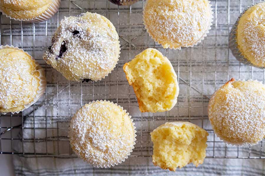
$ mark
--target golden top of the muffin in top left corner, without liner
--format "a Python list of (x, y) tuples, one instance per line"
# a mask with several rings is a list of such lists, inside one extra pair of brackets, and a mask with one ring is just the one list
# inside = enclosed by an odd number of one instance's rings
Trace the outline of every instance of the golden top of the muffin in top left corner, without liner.
[(0, 8), (12, 18), (29, 19), (41, 15), (52, 0), (0, 0)]

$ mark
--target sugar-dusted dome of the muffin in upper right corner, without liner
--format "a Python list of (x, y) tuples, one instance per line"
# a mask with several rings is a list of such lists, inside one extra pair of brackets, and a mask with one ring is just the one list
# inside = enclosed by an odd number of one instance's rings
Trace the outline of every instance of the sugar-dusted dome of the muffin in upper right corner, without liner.
[(237, 48), (253, 65), (265, 67), (265, 3), (249, 8), (236, 29)]

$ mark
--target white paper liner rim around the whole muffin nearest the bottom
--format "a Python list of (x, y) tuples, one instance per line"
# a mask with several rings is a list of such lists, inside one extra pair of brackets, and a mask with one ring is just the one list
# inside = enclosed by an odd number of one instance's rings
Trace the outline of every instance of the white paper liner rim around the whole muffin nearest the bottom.
[[(106, 101), (106, 100), (97, 100), (97, 101), (90, 101), (88, 104), (92, 104), (92, 103), (95, 103), (95, 102), (110, 102), (110, 101)], [(110, 103), (112, 103), (112, 104), (114, 104), (112, 101), (110, 102)], [(128, 153), (124, 156), (124, 158), (121, 158), (121, 159), (119, 159), (119, 160), (117, 160), (117, 161), (115, 161), (114, 163), (106, 163), (106, 164), (103, 164), (103, 165), (96, 165), (96, 164), (93, 164), (93, 163), (90, 163), (90, 162), (88, 162), (87, 160), (84, 160), (84, 162), (86, 162), (86, 163), (88, 163), (88, 164), (90, 164), (90, 165), (93, 165), (94, 167), (101, 167), (101, 168), (107, 168), (107, 167), (111, 167), (111, 166), (115, 166), (115, 165), (118, 165), (119, 163), (122, 163), (123, 161), (125, 161), (125, 159), (127, 159), (128, 158), (128, 156), (130, 156), (131, 155), (131, 152), (132, 152), (132, 149), (134, 149), (134, 145), (135, 145), (135, 141), (136, 141), (136, 130), (135, 130), (135, 123), (133, 123), (133, 119), (131, 119), (132, 118), (132, 116), (130, 116), (129, 115), (129, 113), (127, 112), (126, 113), (126, 110), (124, 110), (123, 109), (123, 107), (122, 106), (120, 106), (120, 105), (117, 105), (117, 103), (115, 103), (114, 105), (116, 105), (116, 106), (118, 106), (119, 108), (121, 108), (124, 112), (125, 112), (125, 114), (127, 114), (128, 115), (128, 117), (130, 118), (130, 120), (131, 120), (131, 123), (132, 123), (132, 129), (133, 129), (133, 133), (134, 133), (134, 138), (133, 138), (133, 143), (132, 143), (132, 145), (131, 145), (131, 147), (130, 147), (130, 150), (128, 151)], [(82, 108), (80, 108), (80, 109), (82, 109)], [(77, 110), (77, 111), (79, 111), (79, 109)], [(70, 127), (68, 128), (69, 129), (69, 131), (70, 131)], [(69, 136), (69, 131), (68, 131), (68, 138), (70, 138), (70, 136)], [(72, 146), (71, 146), (72, 147)]]

